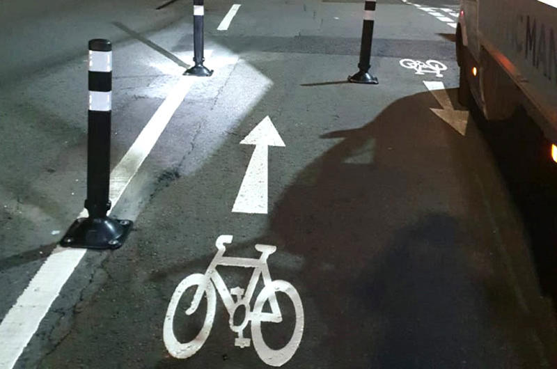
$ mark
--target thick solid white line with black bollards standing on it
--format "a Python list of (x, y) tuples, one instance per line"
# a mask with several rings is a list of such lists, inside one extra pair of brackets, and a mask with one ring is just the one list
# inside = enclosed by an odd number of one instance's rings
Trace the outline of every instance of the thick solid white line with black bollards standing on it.
[[(110, 200), (118, 203), (125, 188), (149, 155), (159, 136), (184, 100), (194, 77), (182, 76), (162, 102), (136, 140), (111, 172)], [(86, 217), (82, 210), (78, 217)], [(37, 331), (42, 318), (58, 297), (63, 285), (72, 275), (86, 249), (67, 249), (56, 246), (31, 282), (19, 296), (0, 323), (0, 369), (13, 368), (24, 348)]]

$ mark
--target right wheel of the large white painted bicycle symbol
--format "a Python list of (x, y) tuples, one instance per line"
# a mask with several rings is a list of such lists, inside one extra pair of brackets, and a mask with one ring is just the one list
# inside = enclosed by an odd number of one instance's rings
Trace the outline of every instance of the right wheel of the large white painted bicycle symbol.
[[(296, 315), (296, 323), (292, 337), (283, 348), (278, 350), (272, 349), (265, 343), (261, 332), (261, 313), (263, 306), (269, 297), (275, 295), (276, 292), (283, 292), (288, 296), (294, 305)], [(301, 305), (298, 291), (293, 285), (286, 281), (272, 281), (259, 293), (251, 315), (251, 338), (253, 339), (253, 347), (256, 349), (258, 356), (269, 366), (282, 366), (295, 354), (300, 345), (302, 333), (304, 333), (304, 308)]]

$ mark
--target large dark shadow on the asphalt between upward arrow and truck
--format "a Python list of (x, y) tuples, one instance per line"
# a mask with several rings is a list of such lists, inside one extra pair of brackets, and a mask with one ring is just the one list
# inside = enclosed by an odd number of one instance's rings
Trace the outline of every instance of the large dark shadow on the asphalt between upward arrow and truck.
[[(306, 166), (276, 203), (262, 242), (281, 240), (280, 252), (304, 260), (301, 270), (292, 270), (269, 258), (272, 275), (299, 290), (306, 313), (305, 337), (286, 367), (304, 367), (304, 357), (316, 352), (327, 368), (540, 363), (525, 333), (532, 322), (493, 256), (492, 228), (474, 174), (462, 164), (468, 138), (434, 116), (429, 109), (434, 104), (430, 93), (418, 93), (394, 102), (363, 127), (323, 134), (321, 139), (343, 140)], [(484, 134), (488, 142), (497, 137)], [(494, 155), (504, 155), (499, 151), (510, 142), (496, 142)], [(507, 175), (515, 167), (501, 171)], [(542, 194), (524, 182), (538, 182), (526, 180), (527, 171), (512, 173), (523, 177), (515, 181), (522, 191), (513, 191), (516, 183), (507, 179), (511, 192), (535, 197), (534, 203), (526, 201), (533, 217)], [(525, 221), (529, 227), (536, 223), (531, 231), (540, 232), (533, 237), (540, 242), (553, 230), (533, 219)], [(258, 241), (235, 244), (234, 251)], [(542, 246), (548, 245), (535, 247)], [(191, 269), (191, 262), (150, 279)], [(166, 357), (157, 368), (184, 364)]]

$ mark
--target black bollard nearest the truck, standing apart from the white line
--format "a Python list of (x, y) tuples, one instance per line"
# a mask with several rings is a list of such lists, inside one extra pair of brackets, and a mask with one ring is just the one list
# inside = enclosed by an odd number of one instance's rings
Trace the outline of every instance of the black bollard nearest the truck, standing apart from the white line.
[(360, 62), (358, 63), (359, 72), (348, 81), (356, 84), (378, 84), (377, 77), (369, 74), (371, 60), (371, 43), (373, 40), (373, 24), (375, 22), (375, 0), (366, 1), (363, 8), (363, 27), (361, 30)]

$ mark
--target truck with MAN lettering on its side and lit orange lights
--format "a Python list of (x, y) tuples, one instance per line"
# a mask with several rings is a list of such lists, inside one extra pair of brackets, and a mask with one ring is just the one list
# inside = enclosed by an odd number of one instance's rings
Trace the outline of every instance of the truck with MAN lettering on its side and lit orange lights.
[[(557, 143), (557, 0), (461, 0), (459, 100), (487, 120), (522, 105)], [(557, 162), (557, 146), (551, 152)]]

